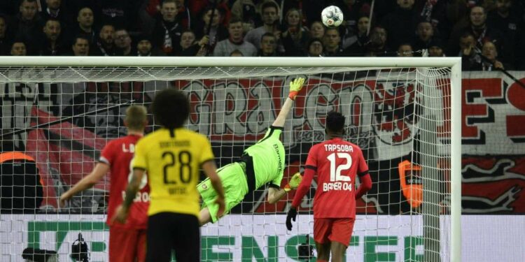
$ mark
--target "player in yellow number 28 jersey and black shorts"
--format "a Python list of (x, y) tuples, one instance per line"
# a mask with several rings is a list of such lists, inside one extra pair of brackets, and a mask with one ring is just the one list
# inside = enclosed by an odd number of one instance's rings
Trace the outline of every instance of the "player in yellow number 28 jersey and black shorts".
[(219, 212), (225, 208), (223, 185), (208, 138), (183, 128), (189, 113), (190, 103), (182, 92), (166, 89), (155, 96), (153, 114), (162, 129), (137, 143), (132, 180), (114, 218), (125, 221), (147, 170), (151, 199), (146, 261), (171, 261), (172, 249), (179, 262), (200, 261), (197, 182), (201, 168), (218, 191), (215, 203)]

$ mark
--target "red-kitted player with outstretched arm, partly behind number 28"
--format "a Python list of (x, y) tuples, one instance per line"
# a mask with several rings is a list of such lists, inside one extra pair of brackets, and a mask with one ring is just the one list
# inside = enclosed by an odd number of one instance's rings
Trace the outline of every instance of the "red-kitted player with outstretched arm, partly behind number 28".
[(111, 262), (146, 260), (146, 225), (150, 191), (147, 179), (141, 183), (141, 190), (134, 199), (135, 203), (130, 208), (126, 223), (109, 223), (116, 208), (125, 198), (134, 148), (138, 140), (144, 136), (144, 127), (148, 123), (146, 112), (146, 108), (141, 105), (131, 105), (127, 108), (124, 121), (127, 126), (127, 136), (109, 142), (102, 150), (99, 163), (94, 166), (90, 175), (83, 177), (74, 187), (60, 196), (60, 206), (64, 207), (69, 198), (93, 187), (111, 170), (108, 219), (106, 221), (109, 225), (109, 261)]

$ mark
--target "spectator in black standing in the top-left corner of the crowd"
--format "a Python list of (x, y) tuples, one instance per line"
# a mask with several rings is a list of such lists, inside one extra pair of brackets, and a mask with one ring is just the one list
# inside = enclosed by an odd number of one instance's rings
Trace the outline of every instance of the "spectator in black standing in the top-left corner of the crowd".
[(28, 54), (38, 54), (38, 36), (41, 36), (42, 24), (38, 16), (36, 0), (20, 1), (20, 13), (13, 22), (15, 38), (27, 43)]

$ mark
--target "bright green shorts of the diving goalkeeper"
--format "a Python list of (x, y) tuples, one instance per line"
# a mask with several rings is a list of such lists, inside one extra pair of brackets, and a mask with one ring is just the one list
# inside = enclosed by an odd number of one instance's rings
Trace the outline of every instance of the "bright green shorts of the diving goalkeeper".
[[(245, 170), (246, 168), (243, 168), (241, 163), (237, 162), (230, 163), (217, 170), (217, 174), (221, 177), (224, 188), (226, 205), (224, 214), (228, 214), (235, 205), (241, 203), (244, 196), (248, 193)], [(209, 178), (200, 182), (200, 184), (197, 185), (197, 190), (202, 197), (202, 208), (208, 208), (211, 214), (211, 222), (215, 223), (218, 219), (218, 205), (214, 202), (217, 198), (217, 192), (211, 186)]]

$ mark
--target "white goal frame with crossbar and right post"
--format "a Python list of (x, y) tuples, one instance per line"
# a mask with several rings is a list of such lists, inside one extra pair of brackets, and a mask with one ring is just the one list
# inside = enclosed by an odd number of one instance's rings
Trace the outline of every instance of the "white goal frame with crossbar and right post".
[[(0, 57), (0, 67), (451, 68), (451, 261), (461, 261), (461, 57)], [(9, 78), (6, 75), (0, 77)], [(235, 77), (232, 75), (232, 77)], [(155, 79), (153, 79), (155, 80)]]

